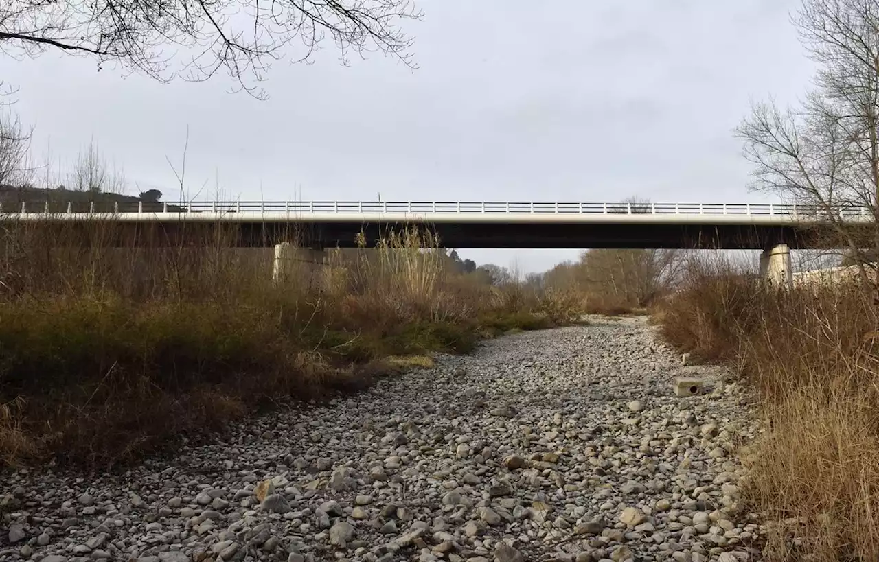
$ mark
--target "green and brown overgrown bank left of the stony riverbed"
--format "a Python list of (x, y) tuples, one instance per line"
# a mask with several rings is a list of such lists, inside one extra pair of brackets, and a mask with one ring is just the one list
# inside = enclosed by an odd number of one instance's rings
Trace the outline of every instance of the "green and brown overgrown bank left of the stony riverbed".
[(6, 464), (125, 464), (260, 407), (358, 390), (429, 364), (419, 356), (577, 312), (563, 292), (462, 275), (417, 232), (328, 263), (296, 260), (281, 285), (271, 250), (236, 249), (220, 227), (186, 247), (96, 243), (117, 234), (98, 224), (0, 234)]

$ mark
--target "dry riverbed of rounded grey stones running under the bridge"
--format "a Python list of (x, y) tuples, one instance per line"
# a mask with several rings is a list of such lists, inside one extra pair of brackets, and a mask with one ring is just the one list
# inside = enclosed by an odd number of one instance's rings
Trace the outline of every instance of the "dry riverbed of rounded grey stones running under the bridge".
[(505, 336), (124, 474), (6, 472), (0, 559), (744, 562), (724, 378), (644, 319)]

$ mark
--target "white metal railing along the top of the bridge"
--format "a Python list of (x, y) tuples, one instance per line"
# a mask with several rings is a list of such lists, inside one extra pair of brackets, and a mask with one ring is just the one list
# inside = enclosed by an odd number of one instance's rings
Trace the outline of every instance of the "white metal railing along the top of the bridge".
[[(7, 207), (9, 205), (6, 205)], [(174, 201), (167, 203), (53, 202), (22, 203), (0, 213), (541, 213), (541, 214), (652, 214), (821, 216), (815, 205), (747, 203), (572, 203), (489, 201)], [(846, 205), (834, 210), (844, 218), (866, 217), (865, 205)]]

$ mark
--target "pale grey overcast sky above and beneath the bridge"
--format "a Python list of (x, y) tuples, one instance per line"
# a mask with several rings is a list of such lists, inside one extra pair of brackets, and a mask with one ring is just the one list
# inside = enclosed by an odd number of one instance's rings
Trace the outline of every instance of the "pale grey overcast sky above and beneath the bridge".
[[(795, 0), (421, 0), (410, 70), (274, 64), (258, 101), (209, 83), (0, 58), (33, 146), (61, 167), (94, 138), (129, 191), (178, 199), (758, 202), (731, 130), (752, 98), (809, 87)], [(537, 6), (545, 7), (543, 10)], [(552, 9), (548, 9), (553, 6)], [(204, 186), (204, 187), (202, 187)], [(543, 270), (578, 250), (461, 250)]]

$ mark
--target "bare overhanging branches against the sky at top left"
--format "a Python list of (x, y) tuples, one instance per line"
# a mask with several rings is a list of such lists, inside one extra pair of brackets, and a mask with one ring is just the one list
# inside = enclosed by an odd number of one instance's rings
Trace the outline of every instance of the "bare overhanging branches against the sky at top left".
[[(56, 49), (161, 81), (225, 71), (239, 90), (265, 97), (258, 83), (295, 42), (296, 61), (329, 39), (344, 64), (378, 51), (414, 66), (399, 24), (420, 17), (411, 0), (4, 0), (0, 51)], [(175, 64), (180, 47), (191, 56)]]

